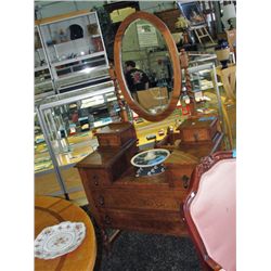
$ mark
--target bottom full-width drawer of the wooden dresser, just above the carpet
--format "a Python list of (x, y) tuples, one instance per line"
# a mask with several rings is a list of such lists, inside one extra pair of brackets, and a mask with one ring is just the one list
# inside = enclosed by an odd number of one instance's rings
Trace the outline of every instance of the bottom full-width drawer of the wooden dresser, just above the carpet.
[(105, 228), (154, 234), (189, 235), (180, 212), (103, 209), (101, 210), (101, 220)]

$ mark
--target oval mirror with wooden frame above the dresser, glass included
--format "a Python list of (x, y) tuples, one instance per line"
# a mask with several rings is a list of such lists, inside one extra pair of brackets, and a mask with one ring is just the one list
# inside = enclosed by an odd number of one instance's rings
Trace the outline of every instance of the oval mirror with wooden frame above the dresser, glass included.
[(120, 24), (114, 43), (120, 90), (140, 117), (159, 121), (179, 100), (181, 67), (167, 26), (155, 15), (137, 12)]

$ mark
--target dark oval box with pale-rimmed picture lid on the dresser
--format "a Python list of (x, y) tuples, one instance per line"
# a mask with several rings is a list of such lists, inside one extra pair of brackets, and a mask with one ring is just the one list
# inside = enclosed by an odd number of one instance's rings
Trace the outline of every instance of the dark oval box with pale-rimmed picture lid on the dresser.
[(170, 152), (165, 149), (153, 149), (134, 155), (131, 164), (138, 167), (136, 177), (154, 176), (165, 171), (165, 162)]

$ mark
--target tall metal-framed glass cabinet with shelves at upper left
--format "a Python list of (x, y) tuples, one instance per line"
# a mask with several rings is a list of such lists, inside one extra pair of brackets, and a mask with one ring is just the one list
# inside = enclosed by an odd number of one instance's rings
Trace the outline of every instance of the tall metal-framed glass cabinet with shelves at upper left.
[(108, 60), (96, 12), (36, 22), (36, 99), (106, 80)]

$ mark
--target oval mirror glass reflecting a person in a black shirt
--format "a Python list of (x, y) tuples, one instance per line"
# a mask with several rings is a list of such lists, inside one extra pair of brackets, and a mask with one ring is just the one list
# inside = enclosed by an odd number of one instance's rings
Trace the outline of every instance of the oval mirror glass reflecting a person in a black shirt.
[(173, 88), (173, 70), (166, 41), (145, 20), (132, 22), (121, 42), (121, 63), (130, 95), (151, 114), (163, 112)]

